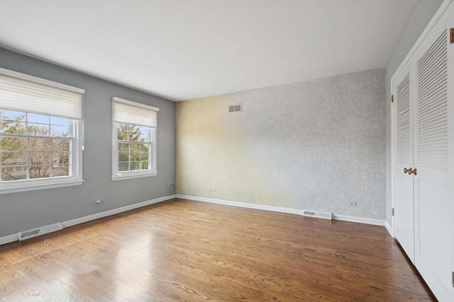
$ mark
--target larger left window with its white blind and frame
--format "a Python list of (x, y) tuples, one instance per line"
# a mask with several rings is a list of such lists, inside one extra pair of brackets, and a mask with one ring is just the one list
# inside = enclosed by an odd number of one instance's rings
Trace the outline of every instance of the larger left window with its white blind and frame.
[(0, 69), (0, 194), (82, 184), (83, 93)]

